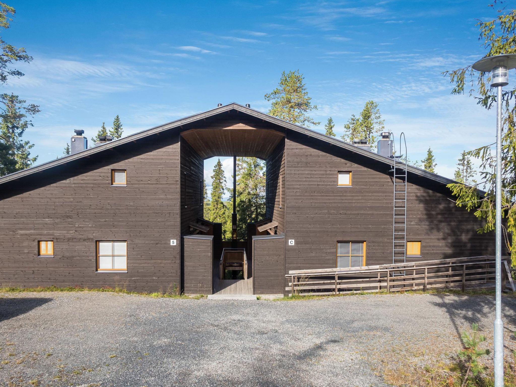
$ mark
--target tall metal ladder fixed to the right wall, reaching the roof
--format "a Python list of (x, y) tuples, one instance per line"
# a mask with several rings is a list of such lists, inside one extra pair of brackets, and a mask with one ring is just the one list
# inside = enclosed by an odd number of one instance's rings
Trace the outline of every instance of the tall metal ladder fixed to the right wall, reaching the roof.
[[(399, 135), (399, 151), (401, 151), (401, 138), (405, 145), (404, 154), (396, 154), (394, 135), (393, 142), (393, 235), (392, 235), (392, 263), (406, 263), (407, 261), (407, 141), (405, 133)], [(404, 275), (404, 272), (393, 272), (393, 275)]]

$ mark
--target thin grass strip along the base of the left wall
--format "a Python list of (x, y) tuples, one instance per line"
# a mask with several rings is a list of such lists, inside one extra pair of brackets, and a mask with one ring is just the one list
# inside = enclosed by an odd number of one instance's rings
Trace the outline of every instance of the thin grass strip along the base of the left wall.
[(98, 288), (89, 288), (81, 286), (38, 286), (38, 287), (18, 287), (18, 286), (3, 286), (0, 288), (1, 293), (23, 293), (23, 292), (35, 292), (35, 293), (46, 293), (46, 292), (99, 292), (99, 293), (118, 293), (134, 296), (146, 296), (152, 298), (178, 298), (178, 299), (194, 299), (198, 300), (204, 298), (204, 295), (193, 295), (188, 296), (180, 294), (177, 286), (169, 286), (166, 291), (161, 288), (158, 292), (130, 292), (125, 286), (103, 286)]

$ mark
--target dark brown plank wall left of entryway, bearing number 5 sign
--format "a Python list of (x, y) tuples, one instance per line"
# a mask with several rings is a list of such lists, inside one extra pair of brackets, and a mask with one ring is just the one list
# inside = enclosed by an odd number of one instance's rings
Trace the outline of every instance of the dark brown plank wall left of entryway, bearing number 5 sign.
[[(0, 285), (178, 287), (180, 143), (167, 133), (6, 183)], [(126, 187), (111, 187), (111, 169), (127, 170)], [(54, 257), (37, 256), (38, 240), (54, 241)], [(95, 272), (96, 240), (127, 240), (126, 273)]]

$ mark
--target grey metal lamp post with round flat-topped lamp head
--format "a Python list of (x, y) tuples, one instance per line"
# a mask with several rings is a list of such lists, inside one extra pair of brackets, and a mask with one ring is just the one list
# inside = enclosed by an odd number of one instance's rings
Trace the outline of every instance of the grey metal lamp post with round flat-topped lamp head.
[(504, 323), (502, 321), (502, 87), (509, 84), (509, 70), (516, 68), (516, 54), (489, 56), (475, 62), (473, 69), (491, 72), (491, 87), (496, 87), (496, 284), (494, 319), (494, 385), (504, 385)]

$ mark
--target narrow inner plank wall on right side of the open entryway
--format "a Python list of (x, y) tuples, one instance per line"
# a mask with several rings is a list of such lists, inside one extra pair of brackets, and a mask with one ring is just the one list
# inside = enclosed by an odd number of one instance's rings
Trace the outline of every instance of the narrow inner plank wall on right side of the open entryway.
[[(281, 179), (281, 181), (280, 181)], [(278, 233), (285, 232), (285, 140), (266, 160), (266, 218), (278, 222)]]

